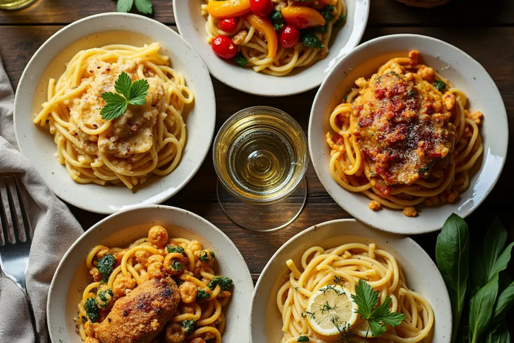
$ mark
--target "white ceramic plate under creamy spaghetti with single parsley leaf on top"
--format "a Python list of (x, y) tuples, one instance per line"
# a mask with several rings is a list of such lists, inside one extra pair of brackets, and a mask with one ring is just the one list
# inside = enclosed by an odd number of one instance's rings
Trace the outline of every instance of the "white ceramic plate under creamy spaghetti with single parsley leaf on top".
[[(48, 77), (58, 78), (65, 70), (64, 63), (81, 49), (113, 43), (141, 46), (154, 41), (161, 44), (161, 53), (170, 57), (173, 68), (185, 77), (195, 96), (192, 108), (184, 117), (187, 142), (180, 163), (171, 174), (162, 178), (152, 176), (143, 185), (136, 186), (134, 191), (123, 186), (75, 183), (54, 157), (57, 148), (53, 135), (32, 123), (35, 109), (40, 109), (38, 106), (46, 100), (42, 95), (46, 94)], [(55, 63), (51, 64), (54, 60), (62, 62), (55, 70)], [(51, 75), (45, 72), (47, 68)], [(16, 140), (24, 155), (57, 196), (76, 207), (97, 213), (114, 213), (138, 204), (159, 203), (177, 193), (207, 156), (215, 120), (212, 81), (198, 54), (166, 25), (128, 13), (88, 16), (55, 33), (30, 59), (14, 100)]]

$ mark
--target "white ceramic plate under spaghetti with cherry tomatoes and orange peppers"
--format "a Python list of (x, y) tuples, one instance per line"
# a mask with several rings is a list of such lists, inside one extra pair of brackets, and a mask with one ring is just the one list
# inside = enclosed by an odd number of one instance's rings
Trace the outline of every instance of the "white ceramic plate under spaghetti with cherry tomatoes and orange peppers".
[(286, 96), (318, 87), (332, 67), (359, 44), (368, 22), (370, 0), (345, 2), (346, 23), (334, 32), (328, 56), (306, 69), (282, 77), (255, 73), (251, 68), (241, 68), (214, 55), (207, 43), (206, 19), (200, 10), (205, 0), (173, 0), (173, 13), (180, 35), (196, 49), (215, 78), (246, 93)]

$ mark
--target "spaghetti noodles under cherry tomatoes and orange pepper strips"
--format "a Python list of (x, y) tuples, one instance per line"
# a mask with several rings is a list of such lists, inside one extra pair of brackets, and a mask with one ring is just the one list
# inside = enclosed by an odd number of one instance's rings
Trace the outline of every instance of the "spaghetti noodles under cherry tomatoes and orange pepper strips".
[[(201, 14), (207, 18), (205, 23), (207, 42), (211, 44), (218, 36), (230, 37), (233, 43), (237, 45), (238, 51), (244, 58), (244, 66), (252, 67), (255, 72), (262, 72), (273, 76), (287, 75), (295, 68), (308, 67), (313, 65), (316, 61), (325, 58), (328, 54), (328, 44), (334, 28), (341, 25), (346, 18), (346, 5), (344, 0), (316, 0), (308, 2), (294, 2), (291, 0), (271, 1), (274, 3), (275, 11), (278, 13), (284, 13), (284, 8), (287, 7), (295, 9), (303, 8), (303, 10), (307, 8), (316, 13), (318, 13), (317, 9), (322, 12), (323, 9), (326, 11), (326, 9), (330, 8), (328, 14), (324, 14), (328, 21), (323, 21), (324, 25), (321, 26), (322, 29), (316, 30), (310, 27), (300, 27), (301, 35), (305, 36), (308, 34), (307, 32), (309, 32), (311, 35), (315, 36), (311, 37), (311, 39), (318, 42), (318, 47), (305, 43), (305, 41), (302, 42), (302, 39), (292, 47), (280, 46), (280, 37), (277, 37), (277, 33), (280, 33), (280, 29), (282, 29), (284, 25), (282, 19), (275, 21), (273, 18), (269, 20), (257, 16), (256, 14), (247, 15), (246, 12), (249, 10), (249, 0), (241, 1), (241, 3), (248, 2), (248, 9), (243, 15), (235, 16), (238, 20), (237, 25), (230, 32), (222, 30), (219, 27), (219, 21), (222, 18), (217, 18), (209, 11), (208, 4), (210, 2), (219, 2), (216, 0), (206, 0), (207, 4), (201, 6)], [(317, 9), (314, 9), (314, 7)], [(321, 16), (319, 13), (317, 15)], [(279, 16), (282, 18), (282, 14)], [(303, 17), (306, 18), (305, 21), (309, 21), (310, 16), (311, 14), (306, 13)], [(273, 24), (275, 24), (274, 27)], [(278, 30), (278, 32), (276, 32), (276, 30)], [(242, 65), (241, 63), (239, 64)]]

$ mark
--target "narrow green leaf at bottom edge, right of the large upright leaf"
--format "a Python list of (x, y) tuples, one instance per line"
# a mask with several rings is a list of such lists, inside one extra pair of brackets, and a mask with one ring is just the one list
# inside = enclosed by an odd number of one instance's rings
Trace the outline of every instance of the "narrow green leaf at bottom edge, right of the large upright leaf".
[(480, 342), (492, 316), (494, 302), (498, 295), (498, 274), (471, 298), (469, 303), (469, 339)]

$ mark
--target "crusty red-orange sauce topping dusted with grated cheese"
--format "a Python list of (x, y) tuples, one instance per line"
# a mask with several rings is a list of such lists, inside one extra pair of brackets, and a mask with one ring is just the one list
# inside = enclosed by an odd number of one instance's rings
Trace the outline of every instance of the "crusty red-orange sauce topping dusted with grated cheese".
[(411, 185), (433, 166), (444, 168), (455, 143), (442, 97), (419, 76), (398, 72), (372, 78), (350, 116), (350, 132), (370, 166), (366, 176), (386, 196), (391, 185)]

